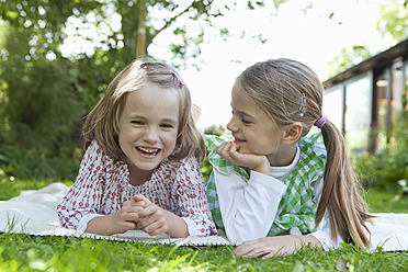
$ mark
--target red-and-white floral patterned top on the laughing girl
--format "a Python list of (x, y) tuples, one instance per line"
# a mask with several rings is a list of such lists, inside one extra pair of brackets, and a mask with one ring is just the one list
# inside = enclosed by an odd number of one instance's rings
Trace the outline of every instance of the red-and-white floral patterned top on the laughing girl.
[(88, 147), (76, 182), (57, 206), (60, 224), (84, 231), (97, 216), (117, 213), (133, 195), (143, 194), (159, 207), (182, 217), (190, 236), (216, 235), (200, 167), (195, 158), (163, 160), (149, 181), (129, 183), (127, 165), (114, 161), (97, 144)]

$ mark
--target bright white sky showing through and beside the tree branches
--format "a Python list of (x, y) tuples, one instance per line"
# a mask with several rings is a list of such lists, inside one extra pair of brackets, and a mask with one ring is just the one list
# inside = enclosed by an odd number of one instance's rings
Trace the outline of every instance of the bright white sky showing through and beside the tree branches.
[[(214, 3), (223, 4), (219, 0)], [(313, 7), (303, 11), (309, 1), (287, 0), (275, 10), (272, 0), (265, 0), (265, 7), (250, 11), (245, 5), (247, 1), (237, 1), (236, 10), (213, 21), (216, 26), (226, 27), (230, 33), (227, 41), (220, 37), (215, 29), (205, 29), (205, 43), (201, 45), (200, 70), (193, 67), (196, 59), (188, 59), (188, 67), (180, 75), (189, 87), (193, 102), (201, 109), (199, 126), (204, 129), (211, 125), (228, 123), (231, 116), (230, 90), (235, 79), (248, 66), (271, 58), (293, 58), (303, 61), (314, 69), (324, 81), (328, 77), (328, 61), (343, 46), (369, 44), (372, 52), (384, 50), (389, 42), (381, 39), (376, 31), (379, 18), (378, 2), (388, 0), (313, 0)], [(397, 0), (399, 1), (399, 0)], [(182, 9), (182, 8), (180, 8)], [(157, 22), (155, 10), (149, 15)], [(82, 31), (92, 39), (76, 41), (76, 26), (81, 22), (75, 16), (68, 19), (66, 33), (68, 38), (61, 47), (63, 55), (72, 52), (92, 54), (109, 32), (109, 27), (95, 30), (92, 25), (94, 15), (89, 14), (88, 25)], [(112, 12), (111, 26), (120, 30), (120, 15)], [(188, 30), (194, 35), (195, 27), (189, 21)], [(72, 35), (70, 35), (70, 33)], [(93, 34), (92, 34), (93, 33)], [(242, 33), (245, 35), (242, 36)], [(262, 35), (265, 43), (252, 36)], [(158, 59), (167, 59), (171, 55), (169, 38), (177, 38), (172, 31), (160, 33), (149, 46), (148, 53)], [(117, 44), (118, 47), (123, 44)]]

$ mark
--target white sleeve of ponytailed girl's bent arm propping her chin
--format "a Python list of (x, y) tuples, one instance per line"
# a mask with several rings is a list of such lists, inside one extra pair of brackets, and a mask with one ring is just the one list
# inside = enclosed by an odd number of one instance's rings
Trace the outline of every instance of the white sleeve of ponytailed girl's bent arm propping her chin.
[(214, 171), (214, 180), (228, 239), (241, 243), (265, 237), (287, 186), (256, 171), (248, 183), (234, 172)]

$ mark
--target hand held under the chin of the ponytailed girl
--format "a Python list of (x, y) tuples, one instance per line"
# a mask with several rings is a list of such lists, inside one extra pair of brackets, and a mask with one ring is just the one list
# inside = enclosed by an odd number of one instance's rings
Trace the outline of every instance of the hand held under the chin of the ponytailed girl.
[(230, 163), (269, 174), (270, 163), (264, 155), (246, 154), (239, 151), (239, 145), (233, 141), (224, 141), (217, 149), (217, 154)]

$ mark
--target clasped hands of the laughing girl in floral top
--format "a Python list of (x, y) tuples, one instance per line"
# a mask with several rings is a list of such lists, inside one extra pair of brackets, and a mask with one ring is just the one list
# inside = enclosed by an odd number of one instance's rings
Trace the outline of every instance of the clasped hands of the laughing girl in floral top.
[(116, 229), (125, 233), (141, 229), (150, 236), (168, 231), (168, 223), (163, 211), (141, 194), (126, 202), (115, 216)]

